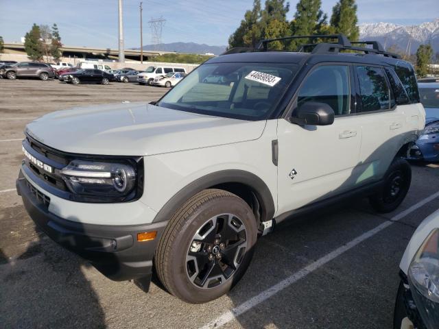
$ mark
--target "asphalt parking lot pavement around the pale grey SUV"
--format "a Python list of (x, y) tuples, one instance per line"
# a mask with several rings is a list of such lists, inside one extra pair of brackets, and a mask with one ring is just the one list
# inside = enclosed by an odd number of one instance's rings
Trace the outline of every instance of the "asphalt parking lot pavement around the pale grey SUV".
[[(377, 215), (360, 199), (281, 223), (218, 300), (185, 304), (108, 280), (35, 228), (14, 191), (25, 124), (47, 112), (152, 101), (166, 89), (0, 80), (0, 328), (392, 328), (399, 261), (439, 208), (439, 166), (412, 165), (409, 194)], [(322, 159), (324, 160), (324, 159)]]

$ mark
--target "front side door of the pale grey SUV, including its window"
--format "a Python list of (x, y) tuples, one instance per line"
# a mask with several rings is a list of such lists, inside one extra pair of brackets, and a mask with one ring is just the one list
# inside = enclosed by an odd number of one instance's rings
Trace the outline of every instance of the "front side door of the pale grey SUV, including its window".
[(334, 110), (331, 125), (296, 125), (278, 119), (278, 213), (352, 188), (361, 146), (361, 126), (353, 109), (352, 69), (320, 64), (305, 77), (293, 108), (312, 101)]

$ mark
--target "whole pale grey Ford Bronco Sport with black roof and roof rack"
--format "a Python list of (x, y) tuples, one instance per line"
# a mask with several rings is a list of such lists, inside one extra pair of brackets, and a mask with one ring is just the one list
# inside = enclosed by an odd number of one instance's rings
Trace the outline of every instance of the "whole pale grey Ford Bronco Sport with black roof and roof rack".
[(238, 282), (274, 223), (355, 196), (394, 210), (425, 125), (412, 65), (331, 38), (297, 52), (263, 40), (157, 102), (32, 121), (16, 182), (27, 212), (108, 278), (147, 291), (154, 267), (169, 293), (201, 303)]

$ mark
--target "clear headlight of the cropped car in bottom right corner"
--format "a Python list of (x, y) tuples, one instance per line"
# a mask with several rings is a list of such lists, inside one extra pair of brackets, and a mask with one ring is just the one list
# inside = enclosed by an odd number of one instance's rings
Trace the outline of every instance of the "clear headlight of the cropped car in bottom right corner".
[(439, 303), (439, 229), (433, 230), (420, 246), (410, 264), (409, 276), (422, 295)]

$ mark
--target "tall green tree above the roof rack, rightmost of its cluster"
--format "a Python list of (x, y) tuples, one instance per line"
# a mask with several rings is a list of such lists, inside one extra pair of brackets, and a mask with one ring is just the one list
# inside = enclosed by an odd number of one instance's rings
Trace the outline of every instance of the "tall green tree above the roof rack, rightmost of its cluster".
[(359, 29), (355, 0), (340, 0), (337, 2), (332, 9), (330, 23), (335, 33), (342, 33), (349, 40), (357, 41)]

